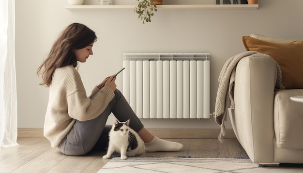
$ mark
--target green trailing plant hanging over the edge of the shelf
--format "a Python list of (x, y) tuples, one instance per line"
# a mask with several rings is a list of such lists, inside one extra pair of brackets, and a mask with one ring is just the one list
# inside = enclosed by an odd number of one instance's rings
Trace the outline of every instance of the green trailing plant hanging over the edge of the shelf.
[(137, 0), (138, 5), (136, 6), (135, 13), (138, 14), (138, 19), (145, 22), (151, 22), (151, 17), (153, 16), (153, 11), (156, 12), (157, 6), (153, 5), (153, 0)]

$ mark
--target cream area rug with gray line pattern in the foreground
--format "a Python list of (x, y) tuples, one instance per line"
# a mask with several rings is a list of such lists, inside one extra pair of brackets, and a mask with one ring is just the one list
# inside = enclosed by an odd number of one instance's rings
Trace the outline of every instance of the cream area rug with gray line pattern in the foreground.
[(258, 167), (250, 159), (120, 158), (98, 173), (302, 173), (303, 168)]

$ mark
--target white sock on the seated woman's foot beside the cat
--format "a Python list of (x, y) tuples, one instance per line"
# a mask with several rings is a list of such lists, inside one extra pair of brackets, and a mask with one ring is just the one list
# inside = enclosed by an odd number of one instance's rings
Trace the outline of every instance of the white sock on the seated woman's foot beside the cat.
[(149, 143), (145, 143), (146, 152), (157, 152), (157, 151), (179, 151), (183, 148), (180, 143), (165, 141), (157, 137)]

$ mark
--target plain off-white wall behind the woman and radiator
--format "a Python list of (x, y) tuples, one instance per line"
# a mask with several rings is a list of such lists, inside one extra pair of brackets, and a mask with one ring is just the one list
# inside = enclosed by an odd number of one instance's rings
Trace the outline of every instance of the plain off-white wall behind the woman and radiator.
[[(245, 51), (241, 36), (258, 33), (303, 40), (303, 0), (259, 0), (258, 10), (158, 11), (145, 25), (132, 10), (71, 12), (65, 5), (66, 0), (15, 0), (19, 128), (43, 128), (48, 88), (38, 85), (35, 73), (59, 32), (73, 22), (87, 25), (98, 36), (94, 55), (79, 68), (88, 94), (121, 69), (123, 52), (209, 52), (211, 112), (221, 68), (228, 58)], [(122, 79), (118, 76), (116, 81), (121, 89)], [(219, 128), (213, 118), (142, 121), (147, 128)]]

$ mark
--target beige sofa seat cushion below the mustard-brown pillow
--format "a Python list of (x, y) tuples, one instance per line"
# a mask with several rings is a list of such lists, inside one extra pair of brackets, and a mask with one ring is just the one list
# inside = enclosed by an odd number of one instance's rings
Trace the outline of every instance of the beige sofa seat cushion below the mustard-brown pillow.
[(303, 103), (291, 101), (291, 96), (303, 96), (303, 89), (286, 89), (275, 92), (274, 134), (278, 147), (303, 149)]

